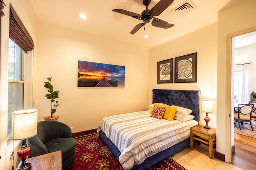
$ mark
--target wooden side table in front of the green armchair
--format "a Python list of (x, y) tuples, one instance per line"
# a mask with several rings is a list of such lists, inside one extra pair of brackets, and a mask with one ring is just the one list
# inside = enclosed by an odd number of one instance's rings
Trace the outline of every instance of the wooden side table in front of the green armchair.
[(61, 150), (26, 159), (26, 163), (31, 163), (30, 170), (61, 170), (61, 162)]

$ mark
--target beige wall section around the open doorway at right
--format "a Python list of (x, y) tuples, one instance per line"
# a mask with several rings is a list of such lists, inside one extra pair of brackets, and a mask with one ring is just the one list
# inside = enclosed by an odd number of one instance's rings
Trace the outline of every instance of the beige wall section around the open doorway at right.
[[(218, 64), (217, 64), (217, 143), (216, 150), (225, 154), (225, 161), (230, 162), (229, 139), (233, 140), (231, 103), (231, 59), (230, 38), (256, 30), (256, 1), (243, 0), (218, 13)], [(225, 131), (224, 131), (225, 129)], [(232, 130), (233, 131), (233, 130)], [(218, 140), (219, 139), (219, 140)], [(232, 141), (231, 141), (232, 143)]]

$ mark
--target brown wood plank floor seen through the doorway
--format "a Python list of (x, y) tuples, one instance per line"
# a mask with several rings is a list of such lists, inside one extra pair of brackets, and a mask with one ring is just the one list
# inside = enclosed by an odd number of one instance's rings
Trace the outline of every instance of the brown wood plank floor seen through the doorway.
[(231, 164), (243, 170), (255, 170), (256, 139), (234, 133), (234, 145)]

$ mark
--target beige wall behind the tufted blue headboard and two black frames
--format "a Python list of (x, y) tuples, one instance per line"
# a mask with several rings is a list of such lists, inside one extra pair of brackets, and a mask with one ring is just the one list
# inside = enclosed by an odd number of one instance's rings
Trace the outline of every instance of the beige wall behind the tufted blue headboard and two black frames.
[[(216, 68), (218, 24), (214, 23), (188, 35), (150, 49), (149, 98), (152, 89), (200, 90), (201, 99), (213, 100), (213, 113), (208, 114), (210, 127), (216, 128)], [(197, 82), (157, 84), (157, 62), (197, 52)], [(175, 69), (174, 69), (175, 70)], [(205, 125), (205, 113), (201, 111), (200, 124)]]

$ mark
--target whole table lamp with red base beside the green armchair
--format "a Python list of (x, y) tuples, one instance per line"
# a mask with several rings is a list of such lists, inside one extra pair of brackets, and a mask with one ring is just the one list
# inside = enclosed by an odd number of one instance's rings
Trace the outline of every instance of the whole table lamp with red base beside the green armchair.
[(12, 113), (12, 140), (22, 140), (20, 149), (17, 152), (22, 164), (16, 170), (28, 170), (31, 168), (30, 163), (26, 163), (26, 157), (30, 152), (30, 147), (26, 139), (35, 136), (37, 133), (37, 110), (19, 110)]

